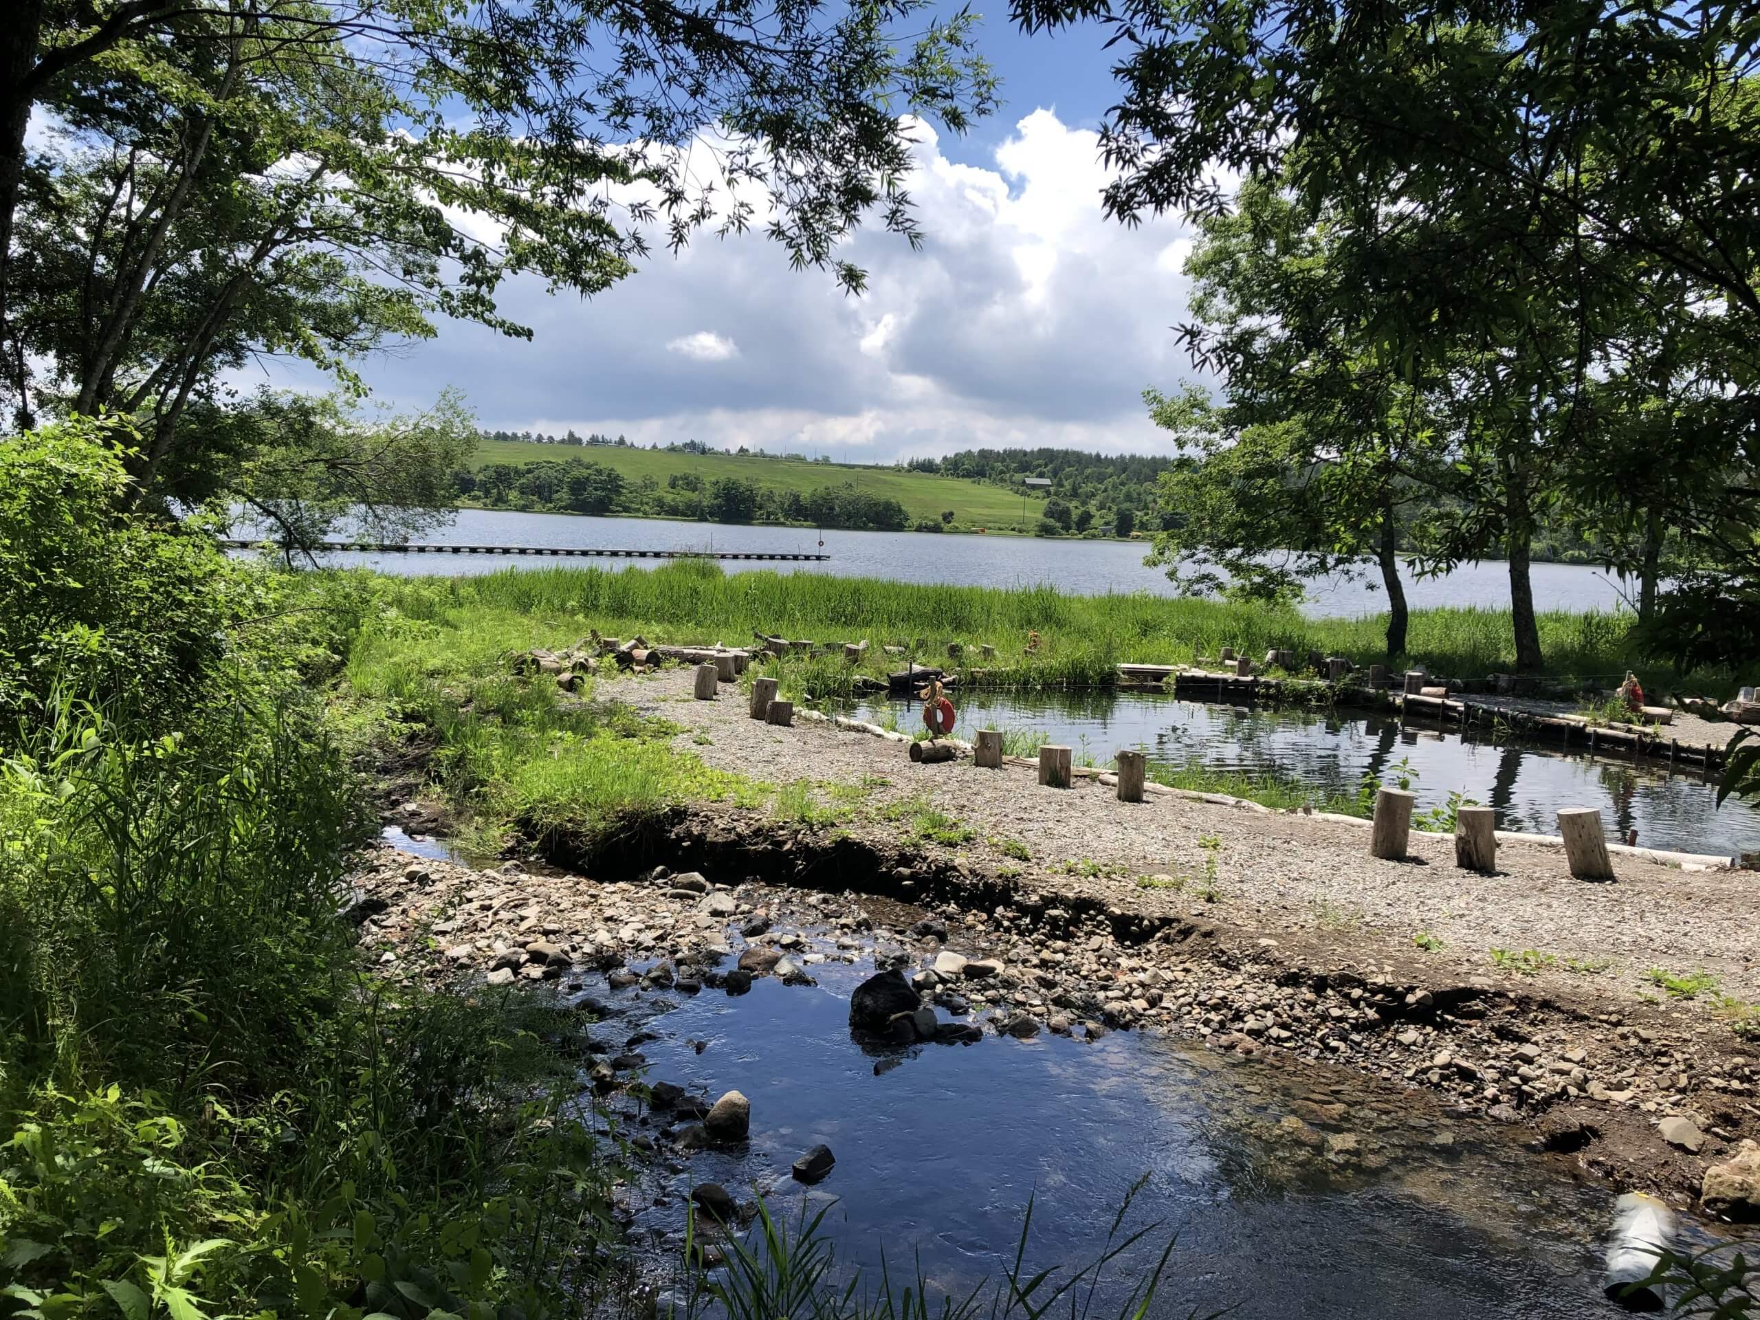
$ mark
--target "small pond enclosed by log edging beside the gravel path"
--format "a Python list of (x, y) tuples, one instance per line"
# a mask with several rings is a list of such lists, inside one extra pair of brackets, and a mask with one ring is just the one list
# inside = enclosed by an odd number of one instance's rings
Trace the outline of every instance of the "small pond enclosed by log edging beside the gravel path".
[[(1385, 781), (1406, 762), (1415, 773), (1417, 810), (1443, 806), (1450, 792), (1496, 808), (1501, 829), (1558, 832), (1558, 810), (1596, 806), (1609, 836), (1639, 832), (1639, 843), (1681, 852), (1734, 855), (1760, 850), (1760, 808), (1716, 806), (1716, 781), (1651, 762), (1565, 755), (1544, 743), (1466, 741), (1382, 715), (1248, 709), (1177, 700), (1153, 692), (968, 692), (954, 699), (956, 736), (977, 729), (1044, 730), (1095, 764), (1119, 748), (1179, 767), (1192, 760), (1220, 771), (1264, 771), (1331, 794), (1353, 794), (1364, 774)], [(862, 718), (891, 711), (913, 729), (920, 708), (880, 700)]]

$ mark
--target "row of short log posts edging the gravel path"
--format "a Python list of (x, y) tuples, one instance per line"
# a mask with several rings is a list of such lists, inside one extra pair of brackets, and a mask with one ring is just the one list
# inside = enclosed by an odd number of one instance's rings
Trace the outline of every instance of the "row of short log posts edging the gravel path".
[[(715, 700), (722, 683), (732, 683), (744, 669), (743, 653), (730, 651), (715, 656), (713, 664), (697, 665), (697, 699)], [(753, 720), (792, 725), (794, 702), (776, 695), (776, 679), (752, 681)], [(950, 743), (912, 743), (910, 759), (920, 762), (952, 760)], [(972, 759), (986, 769), (1001, 769), (1001, 730), (979, 729)], [(1140, 803), (1148, 778), (1148, 759), (1142, 752), (1119, 752), (1118, 799)], [(1060, 743), (1038, 748), (1038, 781), (1051, 788), (1068, 788), (1074, 781), (1072, 750)], [(1404, 861), (1412, 834), (1412, 808), (1417, 799), (1403, 788), (1382, 788), (1375, 796), (1375, 818), (1369, 829), (1369, 854), (1387, 861)], [(1593, 806), (1568, 806), (1558, 813), (1558, 832), (1565, 840), (1565, 857), (1570, 873), (1579, 880), (1612, 880), (1614, 862), (1602, 832), (1602, 813)], [(1498, 825), (1489, 806), (1463, 806), (1454, 817), (1454, 864), (1464, 871), (1498, 869)]]

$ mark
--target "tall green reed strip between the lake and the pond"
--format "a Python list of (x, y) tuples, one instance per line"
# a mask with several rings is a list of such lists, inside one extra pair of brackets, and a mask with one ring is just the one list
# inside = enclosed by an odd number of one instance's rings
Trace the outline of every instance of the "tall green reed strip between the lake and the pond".
[[(715, 563), (662, 568), (521, 568), (463, 579), (387, 579), (387, 598), (417, 620), (480, 625), (509, 644), (533, 634), (561, 639), (588, 628), (607, 635), (642, 632), (676, 642), (746, 644), (753, 632), (869, 644), (854, 671), (841, 660), (799, 671), (797, 686), (841, 695), (852, 672), (901, 667), (880, 648), (905, 644), (919, 664), (947, 664), (947, 642), (963, 642), (964, 664), (1007, 671), (1023, 685), (1105, 683), (1123, 662), (1184, 664), (1223, 646), (1324, 651), (1357, 664), (1382, 662), (1383, 616), (1309, 620), (1294, 609), (1146, 593), (1075, 597), (1051, 586), (980, 588), (912, 584), (825, 574), (725, 574)], [(1030, 635), (1038, 646), (1028, 653)], [(572, 641), (572, 637), (568, 637)], [(1547, 669), (1561, 676), (1612, 676), (1639, 669), (1630, 616), (1547, 612), (1540, 616)], [(920, 646), (919, 646), (920, 642)], [(996, 648), (979, 660), (977, 646)], [(1431, 672), (1480, 678), (1515, 667), (1510, 614), (1491, 609), (1429, 609), (1412, 616), (1408, 656)], [(801, 662), (785, 662), (783, 672)], [(1721, 676), (1709, 676), (1721, 683)], [(818, 692), (817, 688), (825, 688)]]

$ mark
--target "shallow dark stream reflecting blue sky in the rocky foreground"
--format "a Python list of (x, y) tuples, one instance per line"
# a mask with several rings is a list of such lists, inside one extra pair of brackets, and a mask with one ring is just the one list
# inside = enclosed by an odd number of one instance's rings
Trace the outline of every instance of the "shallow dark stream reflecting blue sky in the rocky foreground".
[[(752, 1102), (748, 1146), (702, 1151), (642, 1188), (649, 1244), (678, 1248), (697, 1183), (741, 1200), (764, 1190), (788, 1223), (829, 1207), (840, 1264), (869, 1278), (882, 1262), (920, 1269), (933, 1301), (1008, 1267), (1028, 1199), (1026, 1272), (1088, 1264), (1144, 1179), (1132, 1225), (1160, 1227), (1111, 1280), (1133, 1281), (1177, 1236), (1156, 1320), (1619, 1315), (1600, 1294), (1612, 1190), (1522, 1151), (1517, 1128), (1366, 1093), (1343, 1072), (1137, 1033), (876, 1051), (847, 1024), (871, 972), (827, 961), (811, 966), (818, 986), (762, 979), (737, 998), (590, 986), (660, 1033), (642, 1045), (651, 1081)], [(1290, 1116), (1331, 1144), (1302, 1146), (1280, 1126)], [(788, 1165), (817, 1142), (836, 1167), (803, 1188)], [(1116, 1315), (1123, 1292), (1102, 1288), (1093, 1315)]]

